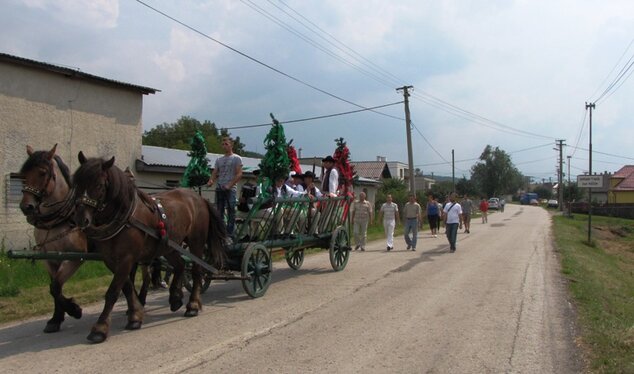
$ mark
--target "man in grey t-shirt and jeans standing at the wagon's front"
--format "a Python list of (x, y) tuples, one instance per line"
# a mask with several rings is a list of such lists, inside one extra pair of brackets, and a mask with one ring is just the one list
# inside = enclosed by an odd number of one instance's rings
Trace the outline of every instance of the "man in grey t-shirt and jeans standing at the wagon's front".
[(227, 214), (227, 233), (233, 236), (236, 222), (236, 185), (242, 178), (242, 158), (233, 153), (233, 140), (230, 137), (222, 139), (224, 156), (216, 159), (214, 170), (207, 182), (213, 186), (216, 181), (216, 207), (224, 217)]

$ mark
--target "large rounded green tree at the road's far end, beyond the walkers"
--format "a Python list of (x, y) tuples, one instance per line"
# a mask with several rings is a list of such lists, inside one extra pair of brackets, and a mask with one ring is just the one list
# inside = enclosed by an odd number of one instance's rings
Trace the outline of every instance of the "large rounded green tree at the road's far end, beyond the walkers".
[(492, 197), (515, 193), (522, 185), (522, 174), (506, 152), (487, 145), (480, 161), (471, 167), (471, 180), (481, 194)]

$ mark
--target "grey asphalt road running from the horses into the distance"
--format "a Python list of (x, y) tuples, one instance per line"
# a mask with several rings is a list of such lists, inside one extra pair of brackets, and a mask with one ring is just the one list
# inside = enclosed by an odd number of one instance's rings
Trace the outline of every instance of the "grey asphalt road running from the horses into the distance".
[[(507, 205), (474, 221), (449, 253), (419, 233), (416, 252), (383, 240), (333, 272), (327, 252), (302, 269), (275, 264), (267, 294), (213, 284), (201, 315), (171, 313), (151, 295), (141, 330), (124, 302), (108, 340), (86, 340), (101, 305), (44, 334), (48, 316), (0, 327), (2, 373), (573, 373), (582, 370), (573, 310), (552, 247), (550, 218)], [(70, 318), (70, 317), (69, 317)]]

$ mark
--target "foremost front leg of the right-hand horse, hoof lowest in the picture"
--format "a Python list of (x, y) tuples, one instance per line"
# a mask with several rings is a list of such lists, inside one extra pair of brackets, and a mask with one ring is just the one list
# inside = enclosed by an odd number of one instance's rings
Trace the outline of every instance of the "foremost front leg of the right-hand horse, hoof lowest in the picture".
[[(110, 332), (110, 313), (112, 313), (112, 308), (114, 308), (114, 304), (117, 302), (124, 284), (128, 282), (128, 285), (132, 287), (132, 282), (130, 281), (131, 270), (131, 263), (121, 263), (120, 266), (116, 268), (112, 281), (110, 282), (110, 286), (108, 286), (108, 290), (106, 291), (103, 310), (101, 311), (97, 322), (90, 329), (90, 334), (86, 337), (90, 342), (102, 343), (108, 338), (108, 333)], [(129, 290), (130, 289), (128, 289), (128, 291)], [(129, 296), (130, 298), (136, 298), (134, 292), (130, 292)]]

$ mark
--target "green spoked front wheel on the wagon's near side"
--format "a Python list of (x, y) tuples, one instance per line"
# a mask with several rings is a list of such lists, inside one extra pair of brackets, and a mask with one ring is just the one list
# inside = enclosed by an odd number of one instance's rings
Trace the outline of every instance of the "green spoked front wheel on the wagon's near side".
[(242, 287), (251, 297), (260, 297), (271, 284), (271, 251), (260, 243), (250, 244), (242, 256)]

